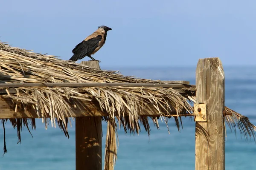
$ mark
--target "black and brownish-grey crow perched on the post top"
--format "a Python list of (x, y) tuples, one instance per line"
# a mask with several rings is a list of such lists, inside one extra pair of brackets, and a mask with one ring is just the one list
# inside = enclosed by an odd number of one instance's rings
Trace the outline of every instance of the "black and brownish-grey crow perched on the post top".
[[(77, 61), (86, 56), (90, 57), (92, 60), (96, 60), (91, 57), (92, 54), (95, 54), (99, 51), (100, 48), (105, 44), (107, 32), (112, 30), (107, 26), (99, 26), (98, 29), (80, 42), (72, 50), (73, 56), (69, 59), (71, 61)], [(99, 60), (97, 60), (99, 61)]]

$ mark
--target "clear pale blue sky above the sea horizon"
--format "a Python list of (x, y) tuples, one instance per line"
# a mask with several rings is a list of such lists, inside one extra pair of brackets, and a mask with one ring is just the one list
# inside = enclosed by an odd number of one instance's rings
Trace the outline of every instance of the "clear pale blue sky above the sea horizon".
[(98, 26), (111, 27), (93, 55), (105, 69), (196, 66), (205, 57), (256, 65), (255, 0), (4, 0), (0, 15), (2, 42), (61, 59)]

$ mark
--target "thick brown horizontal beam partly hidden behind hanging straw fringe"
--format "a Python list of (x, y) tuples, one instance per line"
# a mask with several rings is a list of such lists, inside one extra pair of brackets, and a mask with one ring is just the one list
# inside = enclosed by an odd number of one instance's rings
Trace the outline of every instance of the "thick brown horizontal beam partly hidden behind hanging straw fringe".
[[(17, 107), (16, 107), (17, 104)], [(80, 117), (80, 116), (108, 116), (108, 113), (103, 112), (99, 109), (97, 102), (82, 101), (77, 103), (77, 108), (72, 109), (69, 113), (66, 113), (64, 117)], [(16, 111), (15, 111), (16, 110)], [(176, 111), (161, 111), (166, 116), (177, 115)], [(184, 111), (184, 113), (186, 113)], [(168, 115), (167, 115), (168, 114)], [(139, 113), (140, 116), (160, 116), (160, 113), (149, 104), (145, 104), (143, 110)], [(187, 116), (187, 115), (186, 115)], [(50, 117), (49, 115), (37, 115), (35, 110), (31, 106), (27, 106), (24, 110), (21, 103), (13, 103), (10, 98), (0, 97), (0, 119), (10, 118), (42, 118)], [(56, 117), (56, 116), (55, 116)]]

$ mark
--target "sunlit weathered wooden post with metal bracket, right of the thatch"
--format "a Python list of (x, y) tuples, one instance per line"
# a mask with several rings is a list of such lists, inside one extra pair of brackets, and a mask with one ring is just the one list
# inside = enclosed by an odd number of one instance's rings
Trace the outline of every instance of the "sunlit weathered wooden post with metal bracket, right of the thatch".
[(207, 122), (196, 122), (195, 170), (224, 170), (224, 71), (219, 58), (199, 59), (196, 88), (196, 102), (207, 105)]

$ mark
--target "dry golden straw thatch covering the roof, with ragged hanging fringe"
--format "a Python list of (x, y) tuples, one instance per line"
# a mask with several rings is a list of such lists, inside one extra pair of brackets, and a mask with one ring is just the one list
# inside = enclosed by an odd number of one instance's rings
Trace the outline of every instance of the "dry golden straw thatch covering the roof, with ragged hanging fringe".
[[(0, 83), (19, 82), (109, 82), (109, 83), (165, 83), (150, 79), (136, 79), (125, 77), (116, 71), (102, 71), (90, 68), (78, 63), (58, 59), (54, 56), (42, 55), (26, 51), (20, 48), (10, 47), (0, 42)], [(193, 115), (193, 108), (189, 98), (195, 96), (195, 88), (183, 88), (186, 93), (180, 94), (172, 88), (143, 88), (143, 87), (20, 87), (15, 88), (17, 93), (9, 93), (8, 88), (2, 88), (7, 94), (1, 97), (11, 98), (16, 103), (20, 101), (24, 109), (33, 108), (38, 116), (43, 118), (47, 126), (50, 120), (69, 137), (67, 124), (69, 117), (82, 100), (93, 101), (99, 105), (99, 109), (108, 113), (103, 117), (108, 121), (105, 161), (111, 156), (116, 159), (116, 133), (115, 129), (123, 127), (125, 132), (139, 133), (141, 125), (150, 133), (148, 117), (139, 116), (143, 112), (143, 105), (152, 105), (160, 115), (166, 115), (169, 111), (176, 111), (174, 117), (176, 126), (180, 128), (178, 116), (182, 114)], [(165, 111), (163, 113), (162, 111)], [(249, 134), (255, 138), (253, 126), (245, 116), (232, 112), (232, 116), (226, 116), (225, 121), (230, 128), (239, 127), (242, 134)], [(157, 119), (152, 117), (158, 127)], [(166, 121), (165, 117), (161, 117)], [(116, 123), (116, 120), (118, 123)], [(35, 129), (35, 119), (1, 119), (3, 127), (6, 122), (11, 122), (17, 128), (20, 140), (20, 130), (24, 127)], [(167, 121), (166, 121), (167, 125)], [(4, 134), (5, 128), (3, 128)], [(113, 142), (114, 141), (114, 142)], [(6, 152), (6, 145), (4, 146)], [(112, 152), (111, 152), (112, 151)], [(114, 153), (114, 154), (113, 154)]]

